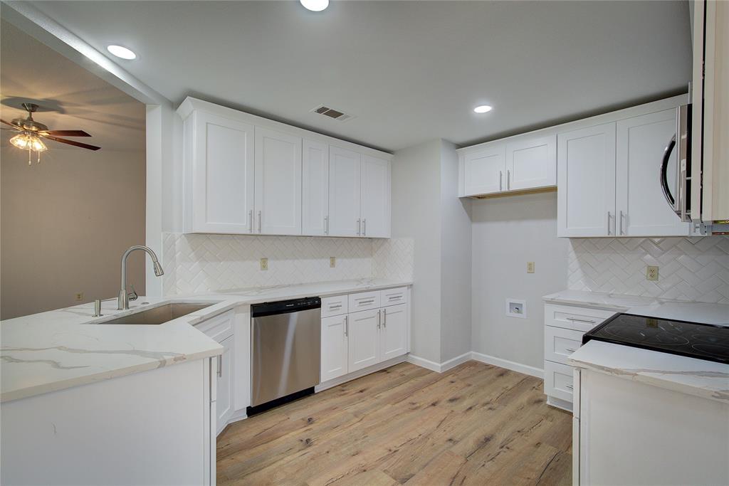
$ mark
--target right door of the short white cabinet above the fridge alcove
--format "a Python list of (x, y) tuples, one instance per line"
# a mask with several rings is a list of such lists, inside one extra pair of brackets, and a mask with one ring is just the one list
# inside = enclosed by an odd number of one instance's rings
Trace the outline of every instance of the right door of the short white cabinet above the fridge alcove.
[(557, 184), (557, 137), (518, 137), (506, 146), (507, 191)]

